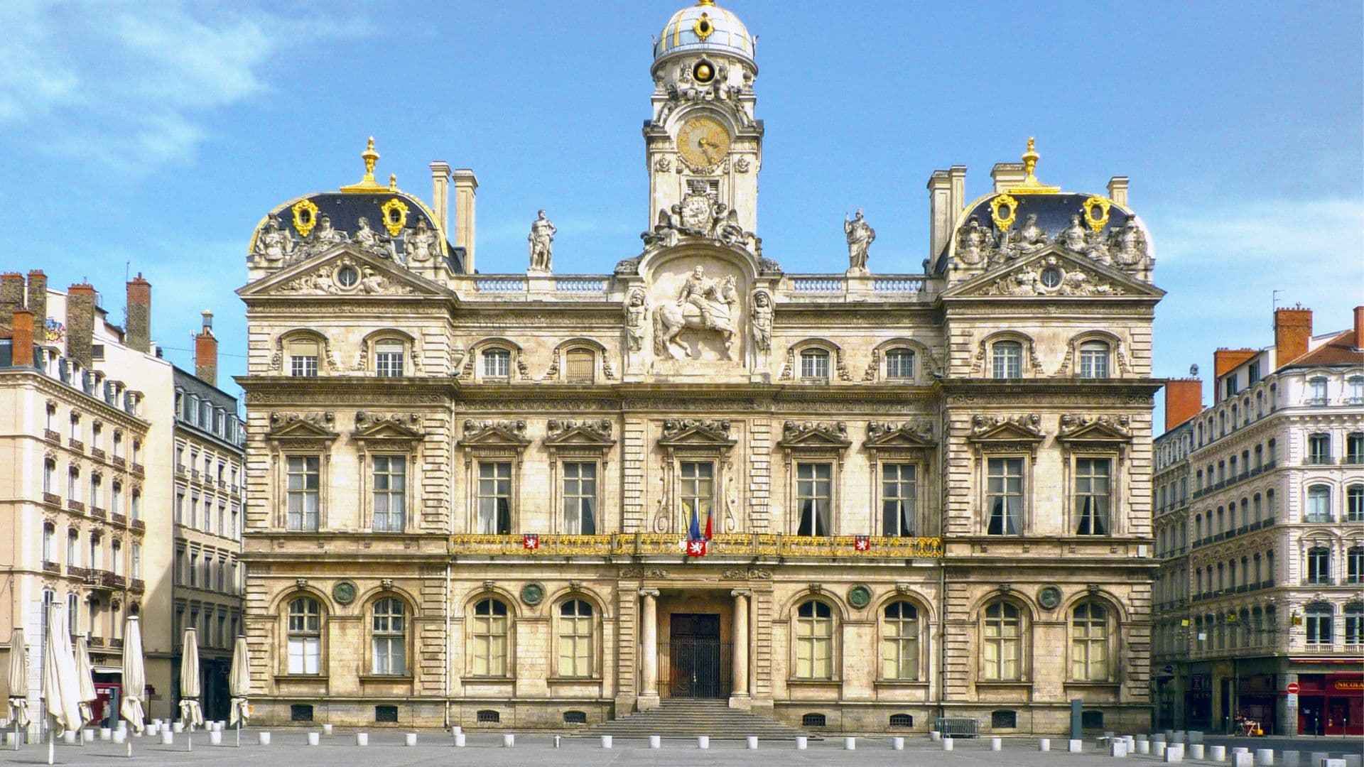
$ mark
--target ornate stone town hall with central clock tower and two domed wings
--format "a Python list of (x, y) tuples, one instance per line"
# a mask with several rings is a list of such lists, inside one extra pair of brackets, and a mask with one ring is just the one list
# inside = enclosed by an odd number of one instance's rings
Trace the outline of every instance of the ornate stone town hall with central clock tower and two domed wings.
[(787, 273), (757, 233), (756, 75), (731, 12), (667, 22), (652, 213), (602, 274), (555, 274), (544, 212), (527, 272), (477, 273), (473, 172), (432, 162), (423, 201), (375, 180), (372, 141), (359, 183), (262, 218), (258, 721), (566, 727), (705, 697), (1027, 733), (1083, 699), (1088, 726), (1148, 725), (1162, 292), (1127, 179), (1046, 186), (1028, 142), (974, 201), (932, 173), (913, 273), (861, 213), (846, 265)]

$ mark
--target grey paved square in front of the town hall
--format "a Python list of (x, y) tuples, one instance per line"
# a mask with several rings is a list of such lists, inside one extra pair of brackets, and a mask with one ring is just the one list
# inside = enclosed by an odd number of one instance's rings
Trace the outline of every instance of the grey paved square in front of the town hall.
[[(944, 752), (941, 745), (926, 737), (907, 737), (904, 751), (893, 751), (889, 738), (861, 737), (857, 751), (846, 751), (843, 738), (810, 741), (806, 751), (797, 751), (794, 741), (764, 741), (758, 751), (747, 751), (743, 741), (712, 741), (711, 748), (697, 748), (693, 738), (664, 740), (662, 749), (651, 749), (648, 741), (617, 738), (614, 748), (603, 749), (596, 738), (567, 738), (554, 747), (554, 736), (521, 734), (514, 748), (502, 747), (502, 736), (495, 733), (472, 733), (466, 736), (465, 748), (454, 748), (449, 733), (421, 732), (416, 747), (404, 745), (401, 732), (370, 732), (370, 745), (356, 747), (355, 734), (337, 732), (322, 736), (321, 745), (307, 745), (308, 730), (271, 730), (271, 745), (258, 744), (254, 730), (243, 732), (241, 748), (232, 745), (209, 745), (206, 733), (194, 736), (194, 751), (186, 751), (184, 734), (176, 734), (173, 745), (161, 745), (151, 738), (134, 741), (134, 757), (124, 760), (124, 747), (112, 742), (94, 742), (87, 747), (56, 747), (56, 764), (82, 767), (117, 767), (127, 764), (214, 764), (224, 767), (338, 767), (363, 764), (364, 767), (471, 764), (477, 767), (521, 767), (527, 764), (573, 764), (574, 767), (623, 767), (641, 766), (705, 766), (705, 767), (792, 767), (799, 764), (858, 767), (880, 766), (1018, 766), (1018, 767), (1087, 767), (1113, 764), (1114, 759), (1101, 752), (1094, 741), (1086, 741), (1082, 755), (1067, 753), (1065, 741), (1053, 740), (1053, 748), (1060, 751), (1039, 752), (1035, 738), (1008, 738), (1004, 751), (992, 752), (989, 738), (956, 740), (955, 749)], [(235, 733), (224, 733), (224, 744), (235, 742)], [(1259, 748), (1269, 745), (1256, 738)], [(1296, 744), (1294, 744), (1296, 745)], [(1311, 751), (1326, 751), (1333, 756), (1342, 752), (1356, 753), (1359, 744), (1349, 740), (1315, 740)], [(1304, 749), (1308, 751), (1308, 749)], [(0, 766), (46, 764), (46, 745), (25, 745), (19, 751), (0, 751)], [(1132, 756), (1127, 764), (1158, 763), (1151, 756)], [(1192, 764), (1213, 764), (1211, 762), (1187, 760)], [(1226, 764), (1224, 762), (1224, 764)], [(1307, 764), (1307, 753), (1303, 753)]]

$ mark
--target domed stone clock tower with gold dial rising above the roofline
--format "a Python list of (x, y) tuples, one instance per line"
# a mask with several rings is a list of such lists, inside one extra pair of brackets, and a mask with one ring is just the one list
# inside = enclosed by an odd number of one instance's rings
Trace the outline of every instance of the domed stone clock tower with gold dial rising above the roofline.
[(651, 227), (660, 210), (675, 218), (683, 205), (705, 197), (735, 210), (745, 231), (757, 231), (762, 121), (753, 117), (756, 44), (743, 22), (713, 0), (663, 25), (653, 42), (653, 109), (644, 121)]

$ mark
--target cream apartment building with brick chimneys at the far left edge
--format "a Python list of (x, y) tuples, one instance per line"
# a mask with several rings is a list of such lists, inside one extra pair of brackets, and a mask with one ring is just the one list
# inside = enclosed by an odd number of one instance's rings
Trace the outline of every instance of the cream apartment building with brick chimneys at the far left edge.
[[(147, 712), (173, 715), (176, 370), (151, 344), (150, 284), (138, 276), (127, 299), (120, 328), (91, 285), (61, 292), (41, 272), (0, 274), (0, 561), (10, 568), (0, 643), (26, 629), (34, 711), (44, 605), (59, 602), (68, 631), (89, 635), (95, 686), (115, 712), (124, 618), (138, 614)], [(3, 663), (14, 648), (0, 650)]]

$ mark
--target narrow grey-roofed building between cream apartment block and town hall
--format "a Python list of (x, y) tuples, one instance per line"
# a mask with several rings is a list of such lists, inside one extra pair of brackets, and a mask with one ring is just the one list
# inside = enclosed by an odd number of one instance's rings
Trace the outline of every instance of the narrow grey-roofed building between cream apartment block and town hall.
[[(237, 400), (217, 388), (213, 315), (194, 338), (195, 373), (175, 370), (175, 647), (199, 635), (205, 717), (228, 718), (232, 644), (241, 631), (241, 445)], [(179, 691), (180, 663), (173, 677)]]

